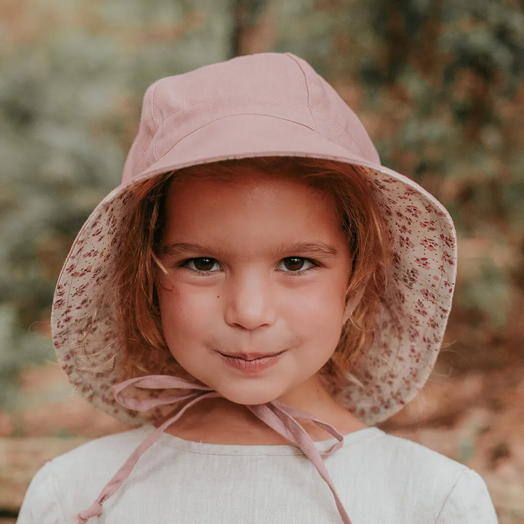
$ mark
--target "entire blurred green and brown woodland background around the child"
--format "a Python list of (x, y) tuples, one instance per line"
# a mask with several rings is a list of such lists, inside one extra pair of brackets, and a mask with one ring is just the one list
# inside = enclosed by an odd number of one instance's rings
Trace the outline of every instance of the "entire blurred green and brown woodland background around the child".
[(452, 344), (381, 428), (472, 467), (500, 523), (524, 523), (522, 0), (1, 0), (0, 521), (46, 460), (125, 429), (69, 387), (49, 314), (75, 234), (119, 183), (145, 89), (270, 50), (309, 61), (384, 165), (450, 210)]

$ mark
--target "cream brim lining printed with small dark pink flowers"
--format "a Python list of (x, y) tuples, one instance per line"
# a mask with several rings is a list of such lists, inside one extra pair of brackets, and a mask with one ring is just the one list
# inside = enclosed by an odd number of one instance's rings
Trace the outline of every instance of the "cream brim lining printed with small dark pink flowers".
[[(456, 238), (449, 214), (418, 184), (374, 163), (352, 163), (367, 168), (394, 250), (394, 281), (380, 314), (379, 331), (355, 374), (364, 388), (348, 380), (336, 396), (342, 406), (372, 425), (413, 399), (433, 369), (451, 309)], [(107, 270), (118, 259), (119, 225), (132, 183), (137, 180), (108, 194), (75, 239), (59, 277), (51, 325), (58, 360), (80, 394), (115, 418), (139, 425), (150, 420), (118, 405), (110, 391), (123, 380), (118, 370), (97, 375), (80, 373), (71, 353), (79, 336), (77, 322), (104, 292)], [(90, 351), (104, 347), (113, 330), (108, 318), (100, 319), (89, 340)]]

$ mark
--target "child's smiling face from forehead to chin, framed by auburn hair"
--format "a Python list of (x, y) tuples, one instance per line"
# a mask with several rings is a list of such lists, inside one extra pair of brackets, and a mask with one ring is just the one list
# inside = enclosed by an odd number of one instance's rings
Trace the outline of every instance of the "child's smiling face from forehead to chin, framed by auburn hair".
[[(287, 402), (318, 383), (341, 334), (351, 267), (331, 197), (253, 174), (179, 180), (163, 245), (171, 281), (158, 271), (162, 329), (187, 372), (241, 404)], [(284, 350), (250, 374), (220, 354)]]

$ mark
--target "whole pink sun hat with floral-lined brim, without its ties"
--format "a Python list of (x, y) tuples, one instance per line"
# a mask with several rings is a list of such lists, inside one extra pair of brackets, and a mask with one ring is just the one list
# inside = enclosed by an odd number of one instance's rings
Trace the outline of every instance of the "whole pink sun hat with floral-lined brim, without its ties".
[[(337, 160), (366, 168), (392, 238), (393, 285), (380, 332), (336, 400), (367, 424), (390, 417), (423, 386), (440, 350), (456, 270), (449, 213), (412, 180), (380, 165), (362, 123), (312, 67), (291, 53), (259, 53), (163, 78), (144, 97), (138, 134), (122, 183), (96, 206), (61, 271), (52, 307), (58, 361), (71, 383), (97, 408), (132, 425), (147, 416), (115, 401), (118, 369), (104, 374), (75, 368), (77, 321), (104, 293), (118, 259), (128, 190), (137, 181), (196, 164), (257, 156)], [(95, 325), (90, 351), (114, 332)]]

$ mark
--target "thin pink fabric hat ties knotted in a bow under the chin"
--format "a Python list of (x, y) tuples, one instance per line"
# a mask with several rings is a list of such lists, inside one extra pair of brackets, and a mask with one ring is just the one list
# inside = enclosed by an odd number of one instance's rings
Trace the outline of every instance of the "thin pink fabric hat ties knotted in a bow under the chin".
[[(172, 395), (163, 398), (137, 400), (123, 396), (123, 391), (130, 386), (135, 386), (141, 389), (190, 389), (193, 391), (188, 395)], [(129, 473), (131, 473), (133, 470), (133, 467), (140, 458), (140, 455), (143, 454), (149, 448), (149, 446), (151, 446), (158, 439), (162, 431), (168, 428), (173, 422), (177, 421), (185, 410), (204, 398), (221, 397), (219, 392), (207, 386), (194, 384), (188, 380), (171, 377), (169, 375), (149, 375), (145, 377), (132, 378), (125, 380), (120, 384), (116, 384), (111, 388), (111, 390), (113, 391), (115, 399), (119, 404), (126, 408), (140, 412), (147, 411), (156, 406), (169, 405), (185, 399), (192, 400), (147, 436), (147, 438), (129, 456), (124, 465), (116, 472), (113, 478), (105, 485), (94, 503), (88, 509), (80, 511), (76, 515), (76, 524), (84, 524), (91, 517), (102, 515), (102, 504), (116, 492), (116, 490), (129, 476)], [(286, 439), (296, 444), (304, 453), (304, 455), (307, 456), (309, 460), (311, 460), (313, 465), (320, 473), (320, 476), (330, 487), (343, 523), (351, 524), (351, 520), (348, 517), (344, 506), (342, 505), (339, 495), (336, 493), (333, 482), (331, 481), (331, 478), (328, 474), (328, 470), (326, 469), (324, 461), (322, 460), (322, 457), (331, 455), (333, 452), (342, 447), (344, 437), (327, 422), (323, 422), (322, 420), (319, 420), (304, 411), (291, 408), (290, 406), (287, 406), (278, 400), (267, 402), (265, 404), (246, 405), (246, 408), (248, 408), (261, 421), (265, 422), (270, 428), (274, 429)], [(297, 420), (294, 419), (294, 417), (312, 420), (316, 425), (319, 425), (321, 428), (325, 429), (334, 437), (336, 437), (339, 442), (333, 444), (328, 450), (319, 452), (311, 440), (308, 432), (299, 422), (297, 422)]]

